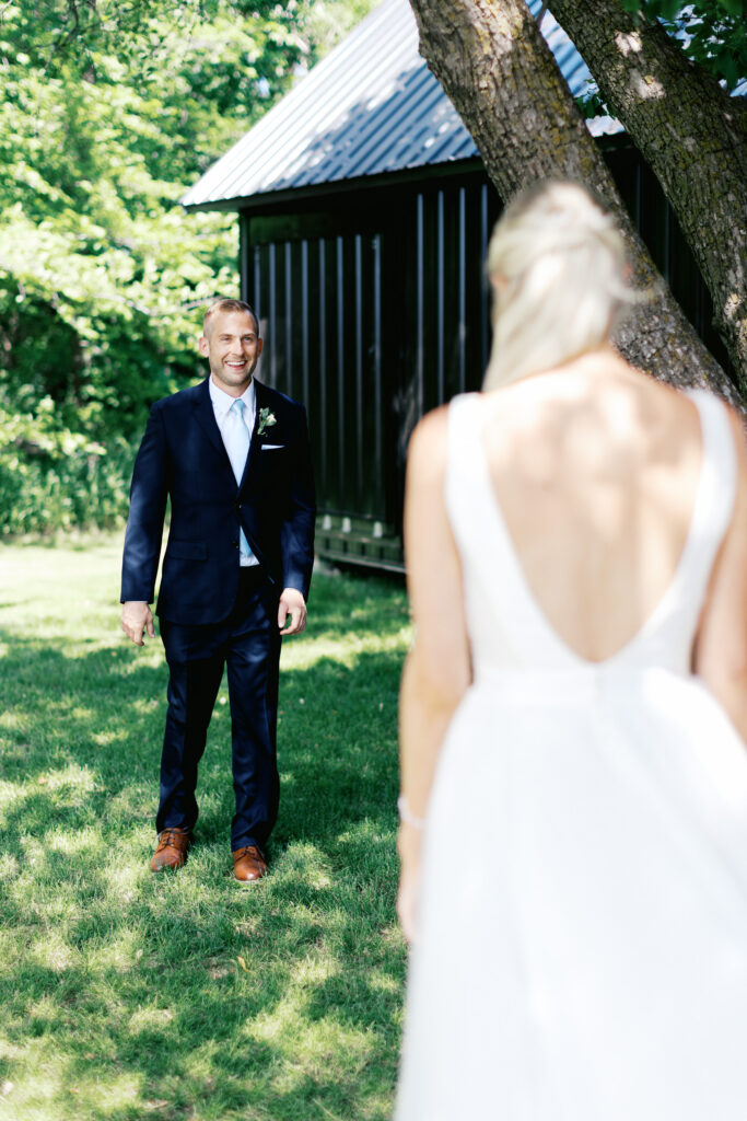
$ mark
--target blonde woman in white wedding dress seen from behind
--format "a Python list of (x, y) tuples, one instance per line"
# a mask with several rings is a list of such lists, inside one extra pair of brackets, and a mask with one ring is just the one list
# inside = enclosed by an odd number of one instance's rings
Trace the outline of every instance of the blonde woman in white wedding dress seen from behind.
[(580, 187), (510, 205), (483, 393), (419, 425), (396, 1121), (747, 1115), (747, 451), (610, 344)]

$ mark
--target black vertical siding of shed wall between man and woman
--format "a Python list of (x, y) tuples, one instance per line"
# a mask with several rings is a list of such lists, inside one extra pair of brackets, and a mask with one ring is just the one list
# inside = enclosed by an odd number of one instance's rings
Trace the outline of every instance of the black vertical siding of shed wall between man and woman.
[(374, 230), (340, 222), (334, 232), (330, 217), (325, 234), (289, 239), (282, 223), (268, 237), (261, 220), (243, 220), (243, 295), (265, 346), (259, 377), (307, 406), (323, 511), (399, 531), (417, 420), (479, 386), (482, 262), (497, 206), (475, 178), (403, 194)]

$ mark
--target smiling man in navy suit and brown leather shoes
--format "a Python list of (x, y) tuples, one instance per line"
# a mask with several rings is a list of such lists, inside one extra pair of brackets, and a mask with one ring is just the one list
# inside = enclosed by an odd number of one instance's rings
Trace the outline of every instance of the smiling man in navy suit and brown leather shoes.
[(239, 299), (205, 315), (209, 377), (153, 405), (132, 473), (122, 562), (122, 629), (155, 637), (164, 516), (170, 527), (157, 613), (169, 666), (151, 869), (180, 868), (197, 821), (197, 765), (227, 666), (234, 876), (267, 872), (278, 813), (276, 724), (281, 636), (306, 627), (314, 479), (306, 410), (253, 373), (262, 340)]

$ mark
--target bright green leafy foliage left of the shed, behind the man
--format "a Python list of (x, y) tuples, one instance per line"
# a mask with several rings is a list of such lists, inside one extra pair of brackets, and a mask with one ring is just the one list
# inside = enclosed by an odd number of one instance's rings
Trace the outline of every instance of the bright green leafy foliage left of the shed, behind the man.
[(373, 0), (0, 9), (0, 536), (109, 526), (150, 404), (237, 295), (231, 214), (179, 197)]

